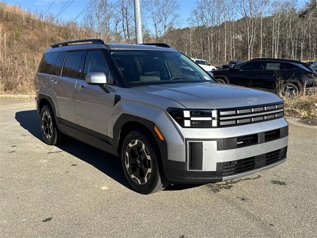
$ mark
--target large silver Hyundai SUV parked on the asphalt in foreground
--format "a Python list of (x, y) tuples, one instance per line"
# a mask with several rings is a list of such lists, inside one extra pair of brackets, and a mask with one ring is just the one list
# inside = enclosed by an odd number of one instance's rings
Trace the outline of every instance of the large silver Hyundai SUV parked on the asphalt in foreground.
[(286, 159), (278, 96), (215, 83), (165, 44), (54, 44), (35, 85), (44, 141), (68, 135), (121, 157), (140, 193), (235, 179)]

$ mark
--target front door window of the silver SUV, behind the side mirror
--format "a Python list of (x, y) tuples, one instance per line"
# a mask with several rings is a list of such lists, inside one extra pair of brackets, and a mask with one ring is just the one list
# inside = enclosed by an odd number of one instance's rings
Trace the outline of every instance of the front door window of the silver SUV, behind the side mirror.
[(109, 67), (101, 51), (88, 51), (85, 66), (84, 78), (88, 73), (103, 72), (108, 77)]

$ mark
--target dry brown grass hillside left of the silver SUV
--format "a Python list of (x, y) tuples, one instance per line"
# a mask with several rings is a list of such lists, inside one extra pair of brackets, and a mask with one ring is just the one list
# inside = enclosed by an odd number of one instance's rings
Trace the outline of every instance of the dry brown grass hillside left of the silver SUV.
[(32, 94), (43, 52), (52, 43), (92, 38), (76, 24), (53, 24), (18, 6), (0, 3), (0, 93)]

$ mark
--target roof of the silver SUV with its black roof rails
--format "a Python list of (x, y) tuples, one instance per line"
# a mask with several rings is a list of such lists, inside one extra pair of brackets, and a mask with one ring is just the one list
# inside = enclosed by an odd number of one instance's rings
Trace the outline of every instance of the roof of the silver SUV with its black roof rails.
[[(91, 42), (87, 44), (87, 42)], [(75, 44), (81, 43), (81, 44)], [(82, 44), (84, 43), (84, 44)], [(104, 43), (100, 39), (87, 39), (77, 41), (67, 41), (53, 44), (51, 49), (45, 53), (53, 53), (58, 51), (70, 50), (89, 50), (89, 49), (108, 49), (108, 50), (152, 50), (152, 51), (176, 51), (164, 43), (149, 43), (149, 44), (119, 44), (119, 43)]]

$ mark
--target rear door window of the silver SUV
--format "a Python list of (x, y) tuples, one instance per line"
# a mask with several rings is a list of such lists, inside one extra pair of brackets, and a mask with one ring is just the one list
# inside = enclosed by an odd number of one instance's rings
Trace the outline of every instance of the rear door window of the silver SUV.
[(74, 52), (67, 52), (63, 75), (80, 78), (81, 77), (81, 69), (83, 65), (83, 51), (74, 51)]

